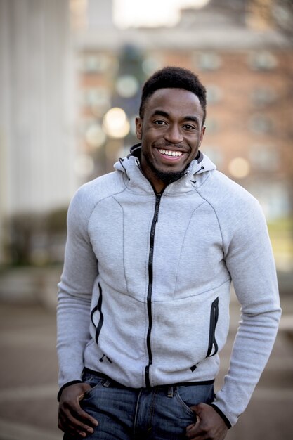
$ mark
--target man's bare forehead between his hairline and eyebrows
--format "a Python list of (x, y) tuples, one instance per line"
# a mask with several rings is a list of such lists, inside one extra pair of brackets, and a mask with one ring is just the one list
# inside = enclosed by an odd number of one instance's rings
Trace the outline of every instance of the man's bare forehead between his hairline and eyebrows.
[(164, 110), (170, 115), (196, 115), (202, 119), (204, 111), (195, 93), (184, 89), (158, 89), (145, 103), (145, 115)]

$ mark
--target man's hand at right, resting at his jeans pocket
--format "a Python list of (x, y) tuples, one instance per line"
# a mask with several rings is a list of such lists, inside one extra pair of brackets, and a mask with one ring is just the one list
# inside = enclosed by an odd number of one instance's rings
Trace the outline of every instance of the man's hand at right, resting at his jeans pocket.
[(199, 403), (190, 407), (196, 414), (197, 421), (186, 428), (188, 439), (223, 440), (226, 437), (228, 427), (216, 410), (207, 403)]

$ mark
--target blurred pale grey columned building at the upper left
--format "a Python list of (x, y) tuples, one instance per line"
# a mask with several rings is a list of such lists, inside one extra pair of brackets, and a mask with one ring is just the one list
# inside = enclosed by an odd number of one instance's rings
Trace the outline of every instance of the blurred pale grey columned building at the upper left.
[(73, 72), (67, 0), (0, 0), (0, 262), (6, 221), (77, 187)]

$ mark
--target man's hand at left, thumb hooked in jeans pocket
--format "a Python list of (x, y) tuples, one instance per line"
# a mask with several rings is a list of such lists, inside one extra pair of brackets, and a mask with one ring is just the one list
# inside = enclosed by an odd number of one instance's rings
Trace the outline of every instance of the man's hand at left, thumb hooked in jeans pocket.
[(58, 428), (66, 434), (86, 437), (93, 433), (93, 427), (98, 426), (98, 420), (86, 413), (79, 405), (84, 393), (91, 386), (86, 383), (72, 384), (63, 389), (59, 403)]

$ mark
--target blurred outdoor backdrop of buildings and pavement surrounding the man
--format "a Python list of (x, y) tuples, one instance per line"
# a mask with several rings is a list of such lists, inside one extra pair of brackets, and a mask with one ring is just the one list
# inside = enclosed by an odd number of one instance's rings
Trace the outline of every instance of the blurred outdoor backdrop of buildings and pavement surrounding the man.
[[(136, 143), (141, 85), (164, 65), (207, 86), (202, 151), (266, 214), (285, 311), (285, 358), (267, 383), (282, 377), (277, 395), (292, 410), (292, 20), (292, 0), (0, 0), (1, 440), (60, 438), (54, 310), (67, 206)], [(289, 420), (268, 429), (261, 414), (267, 439), (292, 438)], [(230, 439), (261, 439), (249, 417)]]

